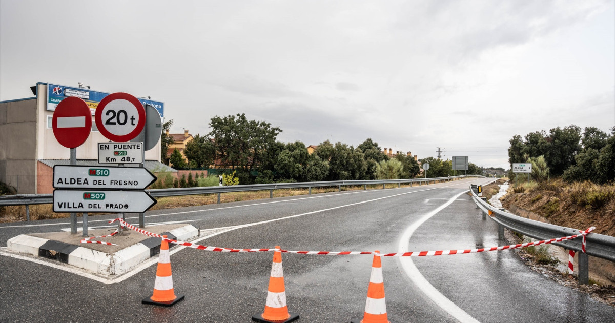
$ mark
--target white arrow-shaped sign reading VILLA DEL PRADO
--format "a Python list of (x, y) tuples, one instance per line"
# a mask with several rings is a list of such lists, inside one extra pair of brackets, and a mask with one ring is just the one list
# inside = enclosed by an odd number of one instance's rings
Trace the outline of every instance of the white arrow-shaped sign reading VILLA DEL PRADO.
[(142, 213), (157, 201), (145, 191), (97, 191), (75, 189), (54, 191), (54, 212)]

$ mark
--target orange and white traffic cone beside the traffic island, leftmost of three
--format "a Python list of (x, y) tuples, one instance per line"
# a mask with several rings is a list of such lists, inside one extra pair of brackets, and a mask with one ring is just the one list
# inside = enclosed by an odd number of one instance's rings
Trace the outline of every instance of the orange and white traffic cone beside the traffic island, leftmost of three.
[[(163, 236), (167, 237), (167, 236)], [(169, 255), (169, 242), (162, 239), (160, 255), (158, 257), (158, 269), (156, 270), (156, 282), (154, 282), (154, 294), (141, 301), (143, 304), (172, 306), (184, 299), (184, 295), (175, 295), (173, 292), (173, 276), (171, 276), (171, 257)]]

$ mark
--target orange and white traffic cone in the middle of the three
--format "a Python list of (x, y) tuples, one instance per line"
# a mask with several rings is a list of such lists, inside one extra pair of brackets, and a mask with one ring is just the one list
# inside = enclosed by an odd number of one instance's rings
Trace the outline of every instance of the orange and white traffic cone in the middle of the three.
[[(280, 249), (276, 245), (276, 249)], [(282, 271), (282, 252), (274, 251), (267, 302), (263, 314), (252, 316), (252, 321), (263, 323), (286, 323), (299, 318), (299, 314), (288, 314), (286, 306), (286, 289), (284, 287), (284, 271)]]

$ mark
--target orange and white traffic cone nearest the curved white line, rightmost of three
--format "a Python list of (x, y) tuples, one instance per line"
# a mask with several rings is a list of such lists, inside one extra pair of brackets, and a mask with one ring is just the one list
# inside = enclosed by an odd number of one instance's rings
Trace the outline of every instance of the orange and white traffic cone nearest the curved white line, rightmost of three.
[(362, 320), (352, 320), (351, 323), (391, 323), (386, 314), (384, 302), (383, 268), (380, 262), (379, 251), (376, 250), (371, 263), (370, 285), (367, 288), (367, 303)]

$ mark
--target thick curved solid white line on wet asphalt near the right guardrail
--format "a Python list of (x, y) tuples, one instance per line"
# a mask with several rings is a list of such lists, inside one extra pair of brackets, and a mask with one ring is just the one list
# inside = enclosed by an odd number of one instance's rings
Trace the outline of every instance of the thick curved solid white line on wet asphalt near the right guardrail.
[[(418, 221), (409, 226), (402, 234), (402, 237), (399, 239), (397, 252), (402, 253), (410, 251), (410, 237), (415, 232), (415, 230), (418, 229), (418, 227), (421, 226), (425, 221), (429, 220), (429, 218), (433, 217), (436, 213), (440, 212), (445, 207), (450, 205), (459, 196), (461, 196), (462, 194), (466, 194), (467, 192), (468, 191), (463, 191), (456, 196), (451, 197), (448, 202), (440, 205), (437, 209), (427, 213)], [(403, 271), (406, 272), (408, 277), (410, 277), (411, 281), (414, 282), (415, 285), (419, 287), (419, 289), (421, 289), (423, 293), (425, 293), (425, 295), (427, 295), (427, 297), (431, 298), (431, 300), (434, 301), (435, 304), (437, 304), (438, 306), (440, 306), (440, 308), (446, 311), (446, 313), (450, 314), (462, 323), (478, 323), (478, 321), (474, 317), (470, 316), (470, 314), (467, 314), (463, 309), (459, 308), (459, 306), (453, 303), (453, 301), (442, 295), (442, 293), (435, 289), (432, 284), (429, 284), (429, 282), (427, 281), (427, 279), (425, 279), (423, 274), (421, 274), (419, 269), (416, 268), (415, 264), (412, 262), (411, 257), (398, 257), (397, 259), (402, 264)]]

